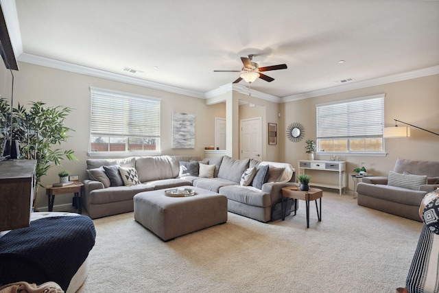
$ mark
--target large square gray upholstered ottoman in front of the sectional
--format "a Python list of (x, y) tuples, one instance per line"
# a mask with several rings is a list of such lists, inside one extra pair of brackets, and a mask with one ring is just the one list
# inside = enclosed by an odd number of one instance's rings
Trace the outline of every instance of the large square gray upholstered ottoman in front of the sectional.
[(165, 196), (169, 188), (136, 194), (134, 220), (164, 241), (227, 222), (226, 196), (192, 186), (185, 188), (193, 189), (195, 196)]

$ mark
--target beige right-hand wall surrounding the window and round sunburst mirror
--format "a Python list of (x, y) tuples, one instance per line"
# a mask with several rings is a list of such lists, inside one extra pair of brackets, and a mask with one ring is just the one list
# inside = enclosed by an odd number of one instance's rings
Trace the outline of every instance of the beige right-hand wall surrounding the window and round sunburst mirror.
[[(281, 161), (297, 168), (298, 160), (307, 159), (305, 141), (316, 141), (316, 104), (379, 93), (385, 93), (385, 126), (394, 126), (393, 119), (398, 119), (439, 133), (439, 75), (430, 75), (281, 104), (283, 119), (279, 132), (285, 134), (287, 126), (293, 122), (305, 128), (305, 137), (299, 142), (289, 141), (285, 135), (279, 137), (282, 145)], [(368, 174), (377, 176), (386, 176), (393, 169), (397, 158), (439, 161), (439, 136), (416, 128), (411, 128), (411, 131), (410, 138), (385, 139), (387, 156), (340, 156), (340, 161), (347, 161), (348, 174), (353, 174), (353, 168), (365, 162)], [(327, 160), (329, 155), (316, 155), (315, 159)], [(348, 189), (353, 190), (351, 176), (348, 176)]]

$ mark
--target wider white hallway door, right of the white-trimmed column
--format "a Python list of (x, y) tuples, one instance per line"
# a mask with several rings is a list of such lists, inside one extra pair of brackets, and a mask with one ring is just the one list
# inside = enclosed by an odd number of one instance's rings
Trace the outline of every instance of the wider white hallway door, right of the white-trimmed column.
[(261, 117), (241, 120), (241, 159), (262, 161)]

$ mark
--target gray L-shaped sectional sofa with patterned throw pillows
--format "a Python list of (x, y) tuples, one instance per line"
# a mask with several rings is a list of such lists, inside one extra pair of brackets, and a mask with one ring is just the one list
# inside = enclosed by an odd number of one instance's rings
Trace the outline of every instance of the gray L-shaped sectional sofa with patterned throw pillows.
[(132, 156), (88, 159), (86, 164), (82, 204), (92, 219), (133, 211), (140, 192), (189, 185), (227, 196), (230, 212), (269, 222), (282, 188), (297, 185), (288, 163), (230, 156)]

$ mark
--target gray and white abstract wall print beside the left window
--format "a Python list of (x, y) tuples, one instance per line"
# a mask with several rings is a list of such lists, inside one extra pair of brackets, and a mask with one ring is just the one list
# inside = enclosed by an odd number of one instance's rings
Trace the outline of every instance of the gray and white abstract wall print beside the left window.
[(172, 112), (172, 148), (195, 148), (195, 115)]

